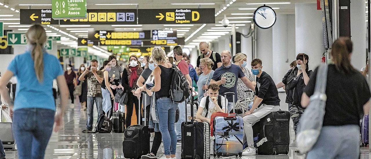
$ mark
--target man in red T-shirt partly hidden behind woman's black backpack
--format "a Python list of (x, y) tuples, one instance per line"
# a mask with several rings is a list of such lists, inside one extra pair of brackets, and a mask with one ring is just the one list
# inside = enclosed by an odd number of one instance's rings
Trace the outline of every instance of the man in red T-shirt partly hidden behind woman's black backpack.
[[(183, 58), (183, 50), (180, 46), (175, 46), (173, 49), (174, 52), (174, 58), (175, 58), (175, 65), (178, 66), (179, 70), (182, 72), (185, 78), (187, 78), (189, 88), (192, 88), (192, 79), (189, 75), (188, 71), (188, 64), (185, 62)], [(188, 97), (187, 97), (188, 98)], [(185, 121), (185, 103), (187, 100), (183, 101), (182, 103), (178, 104), (179, 108), (179, 120), (177, 123), (175, 123), (175, 133), (177, 134), (177, 144), (181, 144), (181, 139), (182, 139), (182, 132), (181, 132), (181, 126), (183, 121)]]

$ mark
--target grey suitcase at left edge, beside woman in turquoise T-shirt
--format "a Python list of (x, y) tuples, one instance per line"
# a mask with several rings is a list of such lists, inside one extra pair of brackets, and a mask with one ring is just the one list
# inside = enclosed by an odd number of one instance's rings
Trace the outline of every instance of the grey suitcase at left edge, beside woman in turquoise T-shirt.
[[(0, 106), (1, 109), (1, 106)], [(0, 110), (0, 119), (1, 116), (7, 116), (8, 120), (7, 122), (1, 122), (0, 120), (0, 140), (3, 143), (4, 148), (11, 148), (13, 150), (16, 150), (16, 141), (13, 136), (12, 132), (12, 121), (10, 119), (10, 111), (9, 108), (7, 108), (8, 114), (5, 115), (6, 113), (4, 110)]]

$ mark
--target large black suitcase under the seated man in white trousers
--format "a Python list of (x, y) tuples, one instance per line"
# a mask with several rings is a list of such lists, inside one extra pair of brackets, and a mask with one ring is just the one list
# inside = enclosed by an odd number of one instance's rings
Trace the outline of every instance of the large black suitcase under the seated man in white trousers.
[(275, 111), (260, 119), (257, 153), (259, 155), (288, 154), (290, 144), (290, 113)]

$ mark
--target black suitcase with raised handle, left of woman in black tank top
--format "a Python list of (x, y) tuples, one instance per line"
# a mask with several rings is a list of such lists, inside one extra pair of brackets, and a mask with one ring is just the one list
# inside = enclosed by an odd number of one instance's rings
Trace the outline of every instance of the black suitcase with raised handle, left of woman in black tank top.
[[(141, 101), (139, 99), (139, 110), (141, 110)], [(147, 109), (144, 109), (147, 111)], [(140, 123), (140, 112), (138, 113), (138, 123)], [(144, 113), (146, 114), (146, 113)], [(125, 129), (125, 139), (122, 142), (122, 152), (125, 158), (139, 159), (142, 155), (150, 153), (150, 132), (148, 126), (132, 125)]]

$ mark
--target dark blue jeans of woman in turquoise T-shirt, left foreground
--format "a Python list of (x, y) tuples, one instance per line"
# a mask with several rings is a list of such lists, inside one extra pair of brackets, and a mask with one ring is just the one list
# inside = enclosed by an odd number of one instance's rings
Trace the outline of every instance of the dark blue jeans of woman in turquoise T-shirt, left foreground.
[(54, 110), (22, 108), (14, 111), (13, 134), (20, 159), (43, 159), (53, 131)]

